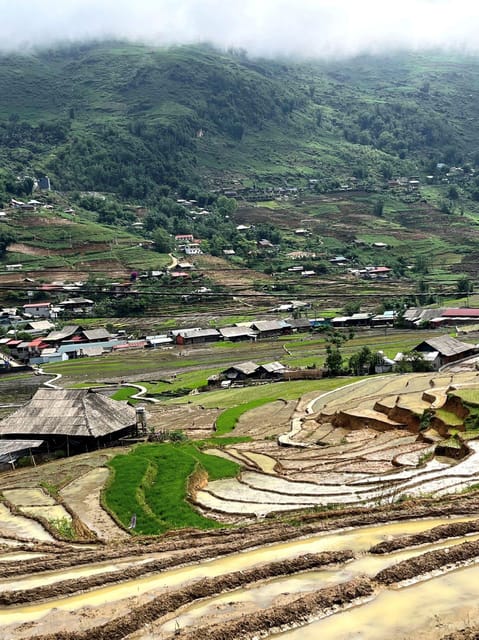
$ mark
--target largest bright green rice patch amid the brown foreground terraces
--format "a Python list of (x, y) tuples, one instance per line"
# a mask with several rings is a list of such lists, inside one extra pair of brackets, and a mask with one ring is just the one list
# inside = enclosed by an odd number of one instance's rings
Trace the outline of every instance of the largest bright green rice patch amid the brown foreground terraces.
[(235, 477), (239, 465), (203, 453), (193, 444), (144, 444), (109, 463), (114, 471), (104, 502), (128, 527), (136, 515), (135, 534), (157, 535), (170, 529), (222, 526), (188, 503), (188, 481), (204, 470), (211, 480)]

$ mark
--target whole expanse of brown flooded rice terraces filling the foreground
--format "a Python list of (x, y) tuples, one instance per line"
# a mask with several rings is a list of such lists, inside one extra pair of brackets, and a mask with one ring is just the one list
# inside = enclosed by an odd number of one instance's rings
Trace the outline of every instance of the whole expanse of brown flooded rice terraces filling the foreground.
[[(0, 637), (462, 637), (478, 613), (479, 440), (460, 439), (452, 422), (475, 383), (473, 372), (378, 377), (256, 407), (234, 433), (251, 441), (182, 445), (177, 470), (180, 458), (194, 470), (188, 507), (198, 523), (216, 521), (208, 531), (130, 537), (128, 514), (121, 526), (103, 508), (113, 452), (0, 476)], [(191, 419), (204, 437), (218, 414), (159, 407), (156, 416), (161, 428)], [(461, 455), (438, 453), (458, 437)], [(172, 458), (152, 446), (135, 451), (154, 524), (151, 492)], [(116, 453), (115, 464), (130, 459)], [(75, 543), (49, 526), (69, 518)], [(441, 625), (436, 608), (417, 608), (433, 596)]]

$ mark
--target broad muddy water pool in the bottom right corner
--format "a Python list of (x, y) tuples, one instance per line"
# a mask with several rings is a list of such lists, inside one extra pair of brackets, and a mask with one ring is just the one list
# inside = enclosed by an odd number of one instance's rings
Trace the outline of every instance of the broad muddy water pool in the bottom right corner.
[(407, 588), (383, 591), (364, 605), (273, 637), (404, 640), (416, 636), (436, 640), (477, 620), (478, 602), (479, 566), (474, 565)]

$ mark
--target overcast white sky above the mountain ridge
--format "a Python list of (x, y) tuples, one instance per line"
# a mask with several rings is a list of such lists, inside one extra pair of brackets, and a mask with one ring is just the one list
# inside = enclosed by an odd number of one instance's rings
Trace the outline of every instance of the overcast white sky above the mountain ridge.
[(251, 54), (479, 52), (477, 0), (0, 0), (0, 49), (115, 37)]

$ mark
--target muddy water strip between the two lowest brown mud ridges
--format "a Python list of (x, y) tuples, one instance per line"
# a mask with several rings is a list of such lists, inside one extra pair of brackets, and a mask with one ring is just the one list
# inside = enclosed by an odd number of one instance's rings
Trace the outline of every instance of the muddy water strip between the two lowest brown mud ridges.
[[(467, 537), (469, 541), (478, 539), (479, 534)], [(397, 562), (408, 560), (426, 551), (444, 549), (463, 542), (464, 538), (461, 538), (449, 542), (424, 545), (420, 548), (409, 549), (385, 556), (366, 555), (347, 563), (339, 569), (337, 567), (331, 567), (321, 571), (308, 571), (303, 574), (270, 580), (257, 587), (238, 589), (235, 592), (208, 598), (199, 604), (187, 607), (182, 611), (181, 615), (177, 615), (174, 620), (162, 625), (159, 631), (165, 634), (172, 633), (175, 630), (176, 622), (179, 623), (181, 628), (189, 627), (193, 624), (204, 624), (205, 620), (203, 620), (202, 623), (198, 622), (200, 618), (217, 615), (222, 608), (226, 606), (231, 608), (233, 605), (238, 605), (239, 603), (248, 603), (255, 608), (271, 607), (274, 605), (275, 599), (285, 593), (294, 593), (299, 596), (301, 593), (315, 591), (319, 587), (330, 587), (352, 580), (359, 575), (366, 574), (372, 577), (382, 569)], [(155, 633), (157, 633), (156, 630)], [(154, 635), (145, 634), (144, 632), (134, 636), (135, 639), (141, 638), (141, 640), (153, 640), (154, 637)]]

